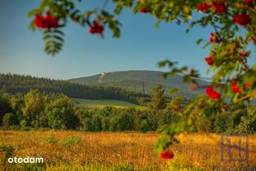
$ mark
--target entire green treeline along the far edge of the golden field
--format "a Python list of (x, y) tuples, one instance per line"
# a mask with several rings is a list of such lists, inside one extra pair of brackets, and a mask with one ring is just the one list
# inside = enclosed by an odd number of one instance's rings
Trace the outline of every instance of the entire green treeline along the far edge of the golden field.
[[(30, 90), (24, 95), (0, 94), (2, 129), (77, 129), (83, 131), (155, 131), (162, 125), (179, 122), (179, 99), (166, 103), (161, 87), (154, 89), (147, 110), (104, 107), (74, 107), (64, 94), (42, 94)], [(157, 97), (159, 99), (157, 99)], [(256, 131), (256, 107), (237, 106), (225, 113), (198, 118), (195, 132), (252, 134)]]

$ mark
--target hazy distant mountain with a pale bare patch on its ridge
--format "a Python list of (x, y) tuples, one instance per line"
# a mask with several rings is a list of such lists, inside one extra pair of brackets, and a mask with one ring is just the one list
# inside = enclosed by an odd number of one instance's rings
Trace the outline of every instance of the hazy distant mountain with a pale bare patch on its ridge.
[[(74, 78), (69, 81), (88, 85), (114, 86), (138, 93), (144, 91), (146, 94), (149, 94), (152, 88), (160, 83), (166, 92), (169, 92), (170, 88), (178, 88), (179, 93), (188, 98), (204, 92), (204, 89), (196, 92), (189, 91), (188, 85), (183, 83), (183, 76), (180, 75), (176, 75), (174, 78), (168, 77), (164, 80), (162, 78), (163, 73), (157, 71), (104, 72), (91, 77)], [(198, 82), (203, 86), (209, 85), (208, 81), (198, 80)]]

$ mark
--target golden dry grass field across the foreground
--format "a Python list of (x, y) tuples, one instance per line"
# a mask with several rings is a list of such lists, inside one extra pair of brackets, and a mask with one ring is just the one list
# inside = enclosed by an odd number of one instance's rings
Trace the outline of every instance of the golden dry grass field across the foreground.
[[(153, 150), (153, 133), (0, 131), (0, 170), (212, 170), (256, 164), (256, 135), (249, 136), (249, 162), (222, 162), (220, 136), (189, 134), (162, 160)], [(14, 147), (14, 151), (8, 149)], [(43, 157), (44, 164), (7, 164), (8, 156)], [(225, 169), (227, 170), (227, 169)], [(231, 169), (234, 170), (234, 169)]]

